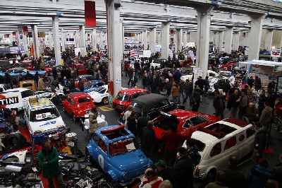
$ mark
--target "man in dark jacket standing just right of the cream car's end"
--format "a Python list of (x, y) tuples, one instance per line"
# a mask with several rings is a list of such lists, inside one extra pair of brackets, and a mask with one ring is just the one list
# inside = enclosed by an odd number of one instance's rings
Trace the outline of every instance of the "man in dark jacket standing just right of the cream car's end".
[(262, 153), (264, 153), (264, 148), (266, 144), (266, 134), (267, 128), (263, 127), (260, 122), (255, 122), (255, 141), (254, 141), (254, 153), (252, 153), (252, 163), (257, 165), (260, 158), (262, 158)]

